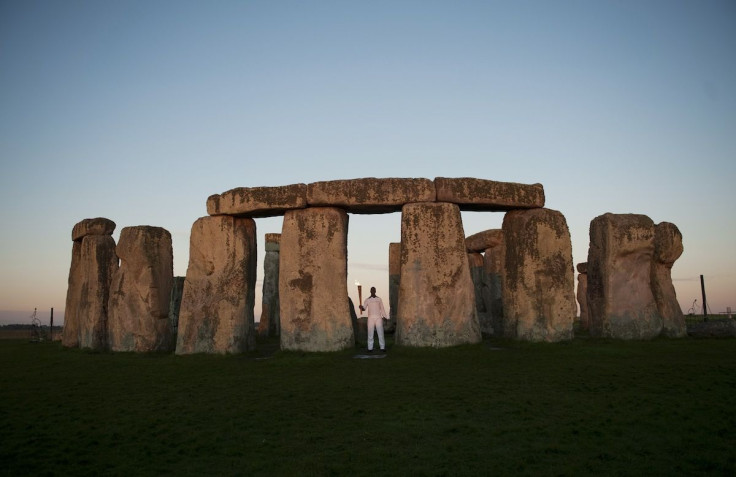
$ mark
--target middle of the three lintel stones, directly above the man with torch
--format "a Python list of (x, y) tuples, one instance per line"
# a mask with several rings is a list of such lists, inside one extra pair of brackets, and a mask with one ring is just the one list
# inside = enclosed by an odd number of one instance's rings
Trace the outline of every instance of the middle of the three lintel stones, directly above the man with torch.
[(429, 179), (348, 179), (314, 182), (307, 186), (307, 203), (340, 207), (348, 212), (380, 214), (401, 210), (404, 204), (432, 202), (434, 183)]

